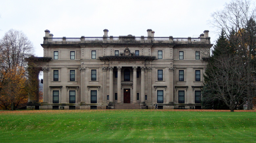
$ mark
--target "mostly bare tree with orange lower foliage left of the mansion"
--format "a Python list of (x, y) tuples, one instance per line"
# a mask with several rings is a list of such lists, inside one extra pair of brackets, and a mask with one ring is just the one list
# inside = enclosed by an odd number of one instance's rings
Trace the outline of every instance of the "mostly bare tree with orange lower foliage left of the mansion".
[[(2, 105), (12, 106), (13, 109), (21, 99), (24, 99), (21, 96), (27, 96), (24, 93), (27, 67), (25, 58), (31, 56), (33, 51), (32, 42), (21, 31), (11, 29), (0, 40), (0, 102), (2, 101)], [(17, 81), (22, 83), (18, 84)]]

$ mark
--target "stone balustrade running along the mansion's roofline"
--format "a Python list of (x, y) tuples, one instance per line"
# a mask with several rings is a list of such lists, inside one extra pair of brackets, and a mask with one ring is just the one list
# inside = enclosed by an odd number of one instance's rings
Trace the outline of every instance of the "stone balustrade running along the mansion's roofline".
[[(121, 37), (121, 38), (120, 38)], [(127, 40), (126, 40), (127, 38)], [(172, 36), (170, 37), (126, 37), (126, 36), (119, 36), (119, 37), (84, 37), (82, 36), (81, 38), (52, 38), (52, 37), (44, 37), (44, 44), (47, 43), (56, 43), (56, 44), (61, 44), (61, 43), (94, 43), (94, 42), (103, 42), (103, 43), (108, 43), (108, 42), (114, 42), (114, 43), (119, 43), (119, 42), (143, 42), (143, 43), (208, 43), (210, 44), (210, 37), (207, 38), (173, 38)]]

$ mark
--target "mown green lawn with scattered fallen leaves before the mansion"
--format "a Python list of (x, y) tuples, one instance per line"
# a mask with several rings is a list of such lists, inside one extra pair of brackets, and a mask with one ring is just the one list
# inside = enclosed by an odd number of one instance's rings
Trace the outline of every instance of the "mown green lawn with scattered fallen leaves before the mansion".
[(256, 112), (0, 111), (0, 142), (256, 142)]

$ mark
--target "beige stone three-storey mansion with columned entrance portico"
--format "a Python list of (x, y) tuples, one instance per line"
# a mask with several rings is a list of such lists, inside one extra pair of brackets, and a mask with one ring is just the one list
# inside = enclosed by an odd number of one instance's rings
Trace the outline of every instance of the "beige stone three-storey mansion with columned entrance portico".
[(147, 36), (53, 38), (45, 30), (40, 109), (201, 108), (209, 57), (199, 38)]

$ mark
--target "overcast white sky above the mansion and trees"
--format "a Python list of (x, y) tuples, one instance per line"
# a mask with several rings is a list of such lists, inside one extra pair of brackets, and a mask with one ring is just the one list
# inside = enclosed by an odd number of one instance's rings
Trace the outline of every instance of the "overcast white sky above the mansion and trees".
[[(216, 30), (211, 13), (231, 0), (0, 0), (0, 38), (8, 30), (22, 30), (43, 56), (44, 30), (53, 37), (147, 36), (193, 37), (209, 30), (214, 43)], [(254, 0), (253, 0), (254, 1)]]

